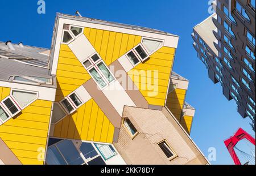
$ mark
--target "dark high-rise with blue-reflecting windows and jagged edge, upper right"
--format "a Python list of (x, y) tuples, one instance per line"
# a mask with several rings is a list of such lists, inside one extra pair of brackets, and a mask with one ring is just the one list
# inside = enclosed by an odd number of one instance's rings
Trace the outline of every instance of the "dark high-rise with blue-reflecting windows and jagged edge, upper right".
[(193, 28), (193, 46), (209, 78), (255, 131), (255, 1), (217, 0), (213, 7), (216, 13)]

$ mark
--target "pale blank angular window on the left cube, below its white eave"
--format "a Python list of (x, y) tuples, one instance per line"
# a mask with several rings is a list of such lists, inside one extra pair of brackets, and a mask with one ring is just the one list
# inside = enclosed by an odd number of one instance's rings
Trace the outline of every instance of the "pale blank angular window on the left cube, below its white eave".
[(18, 102), (19, 106), (22, 109), (26, 108), (26, 106), (28, 106), (38, 98), (38, 93), (24, 92), (18, 90), (13, 90), (11, 92), (11, 95), (15, 98), (15, 100)]

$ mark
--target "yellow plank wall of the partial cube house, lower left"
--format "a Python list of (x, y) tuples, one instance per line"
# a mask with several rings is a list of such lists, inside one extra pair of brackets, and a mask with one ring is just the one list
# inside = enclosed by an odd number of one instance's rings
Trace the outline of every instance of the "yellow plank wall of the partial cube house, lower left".
[(43, 164), (51, 106), (51, 101), (36, 100), (0, 126), (0, 138), (22, 164)]

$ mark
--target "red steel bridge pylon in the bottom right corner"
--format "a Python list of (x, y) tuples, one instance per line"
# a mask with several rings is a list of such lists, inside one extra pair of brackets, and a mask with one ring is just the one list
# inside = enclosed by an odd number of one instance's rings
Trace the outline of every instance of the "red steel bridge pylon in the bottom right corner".
[(234, 151), (234, 147), (236, 146), (238, 141), (240, 141), (242, 139), (247, 139), (250, 141), (250, 143), (255, 145), (255, 139), (251, 135), (249, 135), (245, 130), (243, 130), (242, 128), (239, 128), (238, 131), (236, 132), (236, 134), (234, 134), (234, 136), (232, 136), (229, 139), (224, 141), (226, 148), (228, 148), (228, 151), (236, 165), (241, 165), (241, 162), (240, 162), (236, 152)]

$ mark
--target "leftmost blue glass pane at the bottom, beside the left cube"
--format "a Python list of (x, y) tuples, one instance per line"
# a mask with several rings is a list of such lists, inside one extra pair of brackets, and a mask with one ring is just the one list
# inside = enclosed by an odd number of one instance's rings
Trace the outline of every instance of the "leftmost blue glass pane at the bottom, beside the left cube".
[(48, 165), (67, 165), (55, 145), (47, 149), (46, 163)]

